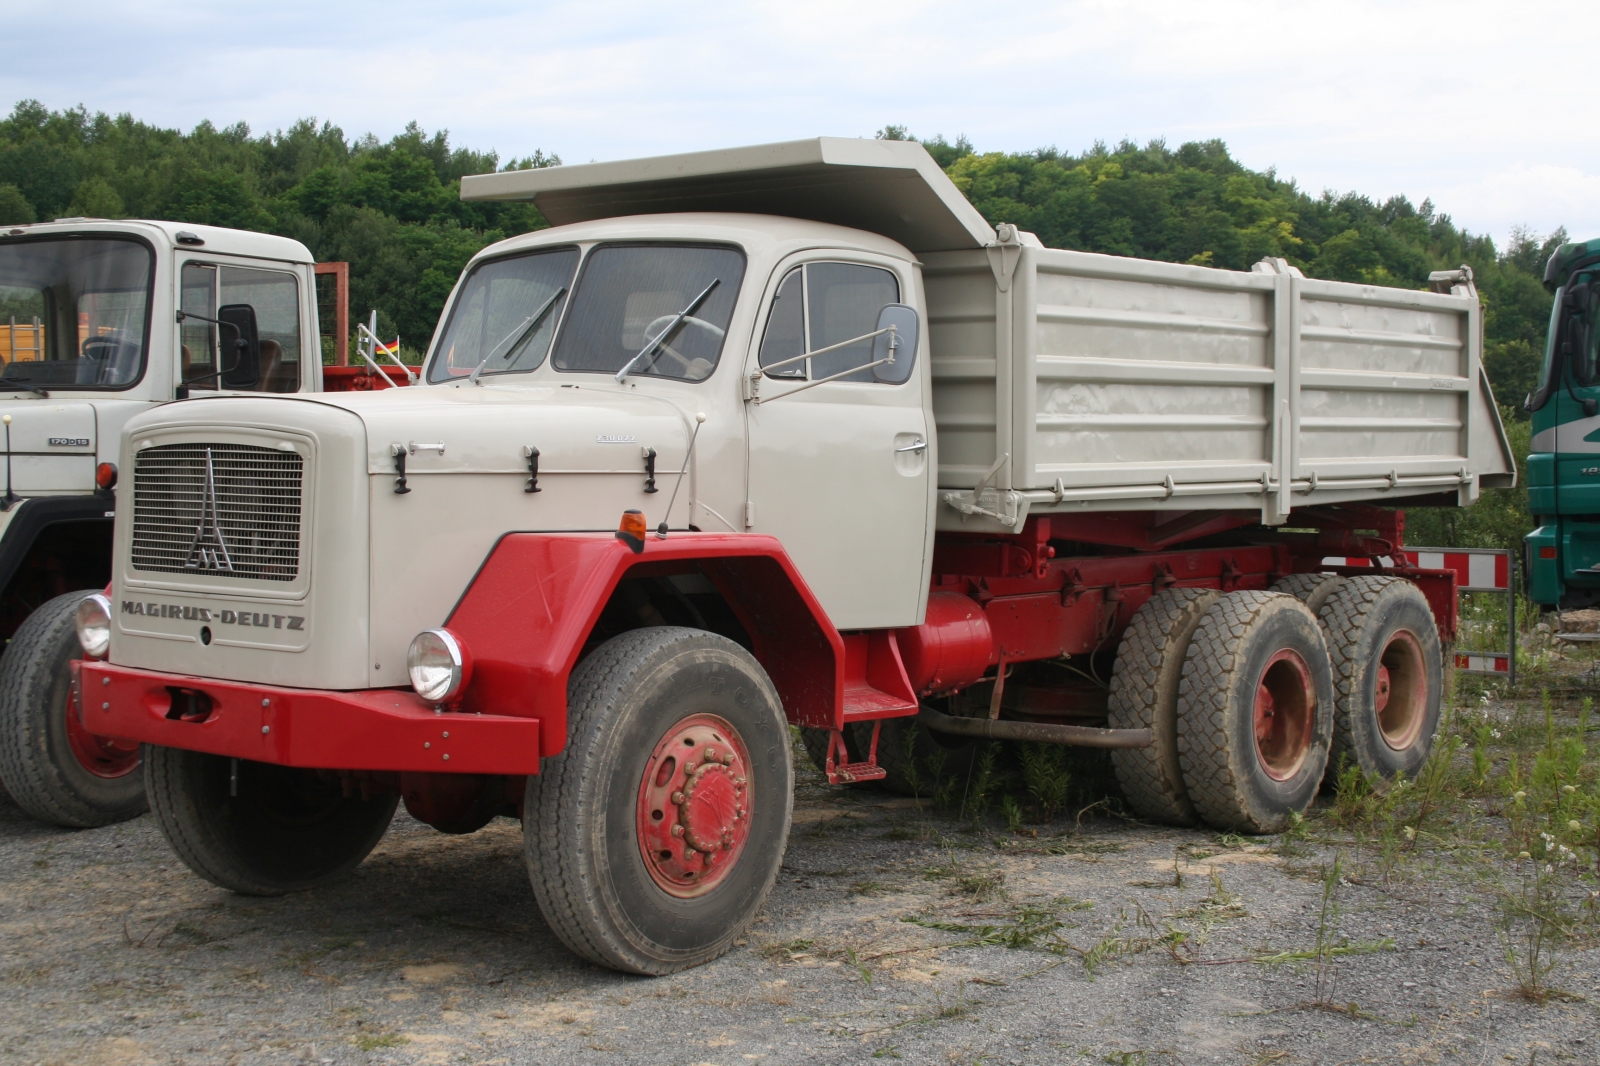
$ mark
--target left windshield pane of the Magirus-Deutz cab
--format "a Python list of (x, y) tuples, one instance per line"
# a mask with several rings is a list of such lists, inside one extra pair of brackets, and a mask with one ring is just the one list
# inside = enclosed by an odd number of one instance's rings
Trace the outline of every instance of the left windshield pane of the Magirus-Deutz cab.
[(576, 271), (578, 248), (486, 259), (472, 267), (450, 309), (427, 379), (466, 378), (478, 367), (482, 375), (538, 368), (550, 351)]

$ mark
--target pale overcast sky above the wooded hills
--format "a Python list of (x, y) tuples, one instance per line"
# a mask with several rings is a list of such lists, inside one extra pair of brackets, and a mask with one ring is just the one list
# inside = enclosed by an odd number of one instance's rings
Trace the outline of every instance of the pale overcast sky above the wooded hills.
[(1304, 189), (1504, 242), (1600, 237), (1581, 85), (1600, 5), (1325, 0), (6, 5), (0, 99), (163, 126), (406, 122), (565, 162), (819, 133), (979, 150), (1221, 138)]

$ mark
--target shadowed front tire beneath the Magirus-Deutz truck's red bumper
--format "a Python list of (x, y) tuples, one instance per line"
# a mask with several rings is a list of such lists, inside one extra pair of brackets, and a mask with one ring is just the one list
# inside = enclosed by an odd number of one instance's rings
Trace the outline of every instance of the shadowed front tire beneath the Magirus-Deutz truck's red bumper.
[[(398, 795), (346, 795), (315, 770), (178, 747), (144, 749), (150, 812), (178, 858), (213, 885), (282, 896), (336, 880), (371, 853)], [(237, 792), (237, 794), (235, 794)]]

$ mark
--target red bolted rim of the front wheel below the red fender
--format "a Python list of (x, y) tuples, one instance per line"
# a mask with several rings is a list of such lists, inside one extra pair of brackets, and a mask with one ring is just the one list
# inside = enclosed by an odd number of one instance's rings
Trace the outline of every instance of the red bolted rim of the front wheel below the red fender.
[(691, 714), (669, 728), (638, 783), (638, 848), (651, 879), (690, 900), (717, 887), (750, 837), (750, 754), (725, 719)]

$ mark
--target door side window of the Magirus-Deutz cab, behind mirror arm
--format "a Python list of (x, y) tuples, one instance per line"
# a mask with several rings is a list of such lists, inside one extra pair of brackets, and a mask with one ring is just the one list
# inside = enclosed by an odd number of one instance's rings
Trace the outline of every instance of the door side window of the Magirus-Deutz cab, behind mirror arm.
[[(882, 267), (856, 262), (808, 262), (790, 271), (778, 287), (760, 363), (822, 352), (768, 371), (773, 378), (819, 379), (843, 375), (840, 381), (877, 381), (870, 370), (850, 373), (872, 362), (872, 339), (846, 343), (878, 328), (885, 304), (899, 303), (899, 280)], [(834, 347), (835, 344), (842, 347)], [(822, 351), (834, 347), (834, 351)], [(899, 360), (896, 360), (899, 363)], [(909, 367), (896, 375), (904, 381)]]

